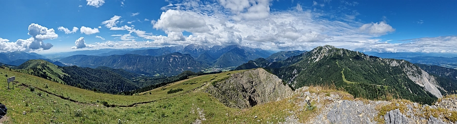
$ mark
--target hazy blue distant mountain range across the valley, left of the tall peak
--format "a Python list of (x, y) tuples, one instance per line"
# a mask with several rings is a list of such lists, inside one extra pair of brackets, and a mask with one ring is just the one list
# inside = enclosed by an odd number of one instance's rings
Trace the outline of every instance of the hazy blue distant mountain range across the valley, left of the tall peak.
[(73, 55), (59, 59), (64, 64), (96, 68), (123, 69), (144, 75), (178, 75), (185, 70), (199, 72), (204, 68), (237, 67), (249, 60), (268, 57), (271, 51), (239, 45), (187, 45), (158, 49), (133, 50), (120, 55)]

